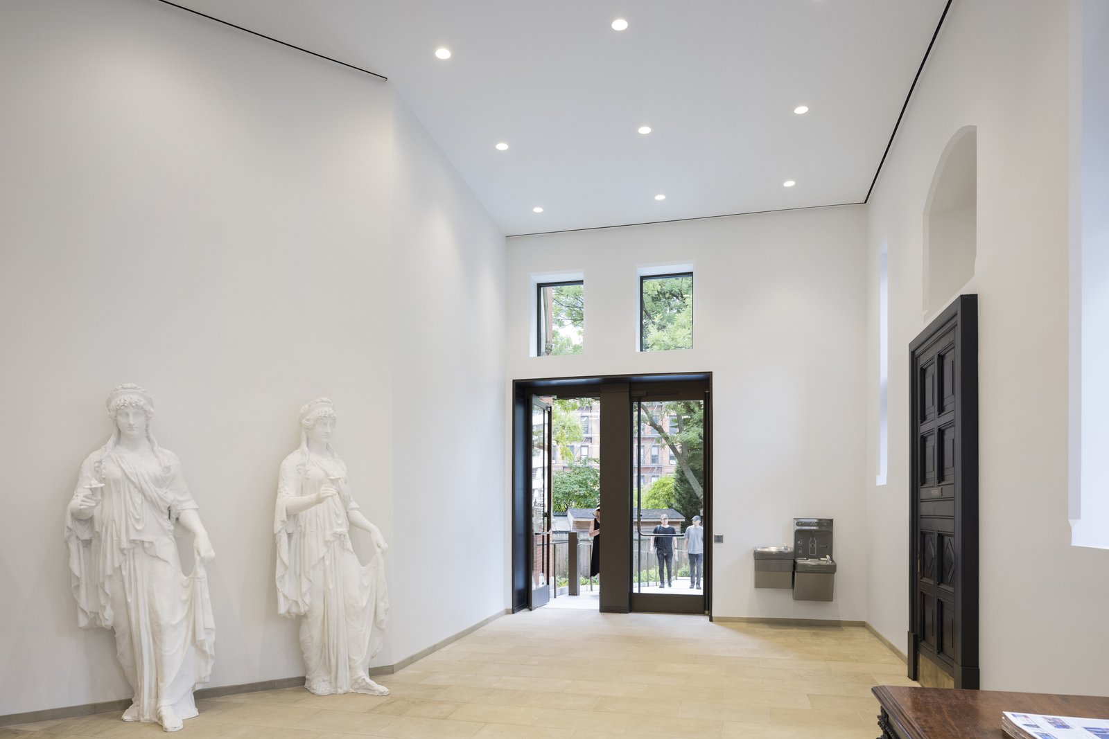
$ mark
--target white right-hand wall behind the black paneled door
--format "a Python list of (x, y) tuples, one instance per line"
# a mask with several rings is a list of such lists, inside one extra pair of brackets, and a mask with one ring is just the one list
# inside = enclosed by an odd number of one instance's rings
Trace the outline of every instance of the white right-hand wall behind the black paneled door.
[[(1066, 2), (952, 7), (868, 207), (867, 353), (877, 351), (878, 249), (889, 249), (889, 482), (868, 481), (868, 620), (908, 630), (907, 345), (920, 315), (922, 218), (952, 135), (977, 126), (981, 687), (1109, 692), (1109, 552), (1070, 546)], [(869, 460), (877, 450), (868, 360)], [(873, 469), (873, 463), (867, 465)]]

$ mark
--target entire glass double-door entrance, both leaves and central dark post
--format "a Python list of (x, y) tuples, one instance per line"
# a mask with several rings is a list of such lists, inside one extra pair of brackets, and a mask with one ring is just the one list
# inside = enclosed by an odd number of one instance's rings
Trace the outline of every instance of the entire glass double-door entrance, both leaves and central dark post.
[[(706, 372), (513, 382), (512, 610), (603, 572), (601, 613), (710, 613), (712, 459)], [(574, 550), (574, 567), (561, 541), (584, 544), (598, 504), (604, 543)]]

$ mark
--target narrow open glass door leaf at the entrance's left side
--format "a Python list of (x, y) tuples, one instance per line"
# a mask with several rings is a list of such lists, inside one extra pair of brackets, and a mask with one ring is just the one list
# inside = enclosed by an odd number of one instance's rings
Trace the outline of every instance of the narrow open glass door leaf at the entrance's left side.
[(542, 398), (531, 398), (531, 595), (535, 610), (550, 599), (552, 553), (551, 531), (551, 407)]

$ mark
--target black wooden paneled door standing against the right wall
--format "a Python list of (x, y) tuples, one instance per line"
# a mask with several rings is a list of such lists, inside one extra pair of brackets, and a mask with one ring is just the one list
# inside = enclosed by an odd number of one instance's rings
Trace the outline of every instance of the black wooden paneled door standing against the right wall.
[(909, 352), (908, 676), (938, 668), (977, 688), (978, 296), (960, 295)]

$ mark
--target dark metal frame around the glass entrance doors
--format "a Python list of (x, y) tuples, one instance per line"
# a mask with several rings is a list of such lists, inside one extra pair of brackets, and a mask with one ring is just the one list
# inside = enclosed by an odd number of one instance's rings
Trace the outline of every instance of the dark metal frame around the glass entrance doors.
[[(530, 516), (530, 459), (528, 438), (531, 422), (531, 397), (556, 394), (559, 398), (601, 399), (601, 447), (604, 463), (601, 465), (601, 506), (607, 521), (624, 521), (628, 525), (611, 524), (604, 530), (604, 546), (601, 548), (601, 569), (623, 573), (624, 587), (602, 587), (600, 610), (603, 613), (629, 613), (633, 609), (631, 598), (631, 412), (632, 394), (643, 392), (668, 392), (675, 389), (701, 388), (705, 399), (705, 449), (704, 449), (704, 495), (705, 528), (704, 572), (712, 572), (712, 373), (690, 372), (672, 374), (640, 376), (594, 376), (578, 378), (546, 378), (512, 381), (512, 527), (511, 527), (511, 587), (512, 613), (528, 604), (529, 547), (528, 531)], [(675, 396), (676, 398), (676, 396)], [(611, 582), (611, 579), (610, 579)], [(672, 606), (669, 599), (684, 598), (695, 602), (695, 613), (712, 613), (712, 577), (705, 577), (704, 599), (689, 596), (649, 596), (638, 594), (635, 610), (661, 610), (668, 613), (686, 612), (681, 606)], [(664, 598), (655, 603), (653, 598)], [(702, 605), (703, 604), (703, 605)], [(689, 607), (689, 606), (686, 606)]]

